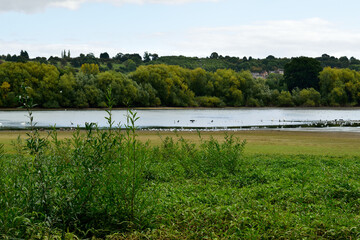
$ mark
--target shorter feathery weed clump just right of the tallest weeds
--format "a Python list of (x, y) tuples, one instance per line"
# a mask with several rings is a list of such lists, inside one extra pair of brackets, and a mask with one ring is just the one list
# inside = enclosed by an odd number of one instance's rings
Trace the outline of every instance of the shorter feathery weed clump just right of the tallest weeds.
[(202, 139), (199, 135), (200, 146), (190, 143), (184, 138), (174, 140), (166, 137), (162, 146), (155, 148), (154, 159), (161, 162), (161, 167), (167, 170), (157, 171), (157, 177), (166, 179), (166, 173), (178, 177), (193, 178), (201, 176), (226, 177), (239, 172), (242, 165), (242, 154), (246, 141), (240, 141), (232, 135), (225, 135), (224, 141), (214, 138)]

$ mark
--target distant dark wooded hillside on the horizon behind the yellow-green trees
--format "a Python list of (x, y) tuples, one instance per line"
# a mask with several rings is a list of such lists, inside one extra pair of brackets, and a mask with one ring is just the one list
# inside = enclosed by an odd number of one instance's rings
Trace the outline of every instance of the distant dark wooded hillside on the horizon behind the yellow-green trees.
[[(183, 68), (196, 69), (202, 68), (206, 71), (215, 72), (218, 69), (232, 69), (237, 72), (249, 70), (252, 73), (274, 72), (282, 70), (291, 61), (291, 58), (276, 58), (272, 55), (264, 59), (257, 59), (251, 56), (234, 57), (223, 56), (216, 52), (208, 57), (186, 57), (186, 56), (159, 56), (156, 53), (145, 52), (142, 56), (138, 53), (117, 53), (110, 57), (107, 52), (101, 53), (98, 57), (93, 53), (81, 53), (77, 57), (71, 56), (70, 50), (61, 52), (61, 57), (51, 56), (49, 58), (36, 57), (29, 58), (27, 51), (21, 50), (19, 55), (0, 55), (0, 61), (8, 62), (27, 62), (37, 61), (52, 64), (58, 68), (72, 67), (80, 68), (85, 63), (99, 65), (100, 71), (114, 70), (116, 72), (129, 73), (136, 70), (140, 65), (178, 65)], [(321, 66), (332, 68), (349, 68), (360, 71), (360, 60), (346, 56), (336, 58), (328, 54), (323, 54), (315, 58)]]

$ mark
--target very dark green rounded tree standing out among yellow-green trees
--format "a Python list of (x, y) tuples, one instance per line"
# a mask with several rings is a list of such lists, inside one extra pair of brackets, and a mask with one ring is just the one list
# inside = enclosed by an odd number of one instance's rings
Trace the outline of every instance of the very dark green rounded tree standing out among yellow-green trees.
[(308, 57), (293, 58), (285, 65), (284, 77), (289, 90), (298, 87), (319, 89), (319, 61)]

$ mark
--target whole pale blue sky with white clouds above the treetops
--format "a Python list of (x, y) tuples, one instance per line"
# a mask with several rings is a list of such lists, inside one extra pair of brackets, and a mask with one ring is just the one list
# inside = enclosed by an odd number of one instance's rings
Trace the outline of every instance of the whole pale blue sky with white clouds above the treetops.
[(0, 55), (360, 58), (359, 0), (0, 0)]

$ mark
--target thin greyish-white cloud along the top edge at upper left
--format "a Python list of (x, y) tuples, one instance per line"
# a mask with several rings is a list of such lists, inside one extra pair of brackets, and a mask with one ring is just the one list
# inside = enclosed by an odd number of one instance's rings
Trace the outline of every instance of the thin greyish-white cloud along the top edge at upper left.
[(88, 2), (103, 2), (120, 6), (123, 4), (184, 4), (217, 1), (219, 0), (0, 0), (0, 12), (20, 11), (31, 13), (48, 7), (64, 7), (74, 10)]

